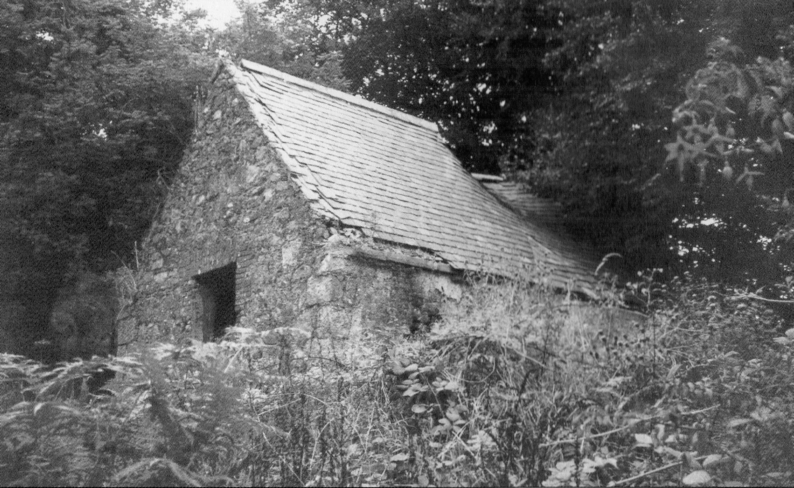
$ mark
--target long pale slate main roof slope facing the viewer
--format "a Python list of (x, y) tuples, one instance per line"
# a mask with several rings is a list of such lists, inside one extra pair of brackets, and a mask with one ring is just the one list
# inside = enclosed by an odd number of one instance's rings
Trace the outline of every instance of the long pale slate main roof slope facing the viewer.
[(318, 213), (459, 270), (590, 289), (596, 263), (499, 202), (436, 125), (257, 63), (224, 62)]

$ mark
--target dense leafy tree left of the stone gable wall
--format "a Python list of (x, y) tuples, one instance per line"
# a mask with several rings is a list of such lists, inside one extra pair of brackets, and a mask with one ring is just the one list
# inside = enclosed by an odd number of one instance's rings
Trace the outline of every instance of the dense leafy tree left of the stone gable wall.
[(38, 258), (108, 269), (148, 227), (211, 66), (164, 23), (178, 7), (3, 0), (0, 207)]

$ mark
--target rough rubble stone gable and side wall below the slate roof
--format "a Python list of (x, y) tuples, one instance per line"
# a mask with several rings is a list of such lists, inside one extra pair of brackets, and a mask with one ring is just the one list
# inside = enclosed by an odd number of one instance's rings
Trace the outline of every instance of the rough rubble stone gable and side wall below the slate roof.
[(424, 297), (445, 290), (439, 280), (449, 279), (351, 259), (360, 233), (312, 213), (226, 75), (200, 115), (165, 206), (141, 244), (138, 270), (118, 272), (119, 354), (201, 339), (193, 277), (229, 263), (237, 263), (237, 325), (298, 326), (326, 339), (333, 352), (364, 342), (382, 349), (427, 315)]

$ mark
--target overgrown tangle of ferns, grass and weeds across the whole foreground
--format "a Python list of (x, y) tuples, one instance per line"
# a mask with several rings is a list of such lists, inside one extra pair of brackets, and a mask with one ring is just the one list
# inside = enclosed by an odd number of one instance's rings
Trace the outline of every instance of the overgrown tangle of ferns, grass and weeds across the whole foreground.
[[(649, 274), (633, 287), (642, 313), (472, 282), (383, 358), (355, 344), (368, 356), (357, 364), (289, 328), (56, 368), (3, 355), (0, 479), (790, 484), (794, 331), (707, 282)], [(101, 369), (117, 371), (113, 391), (92, 394)]]

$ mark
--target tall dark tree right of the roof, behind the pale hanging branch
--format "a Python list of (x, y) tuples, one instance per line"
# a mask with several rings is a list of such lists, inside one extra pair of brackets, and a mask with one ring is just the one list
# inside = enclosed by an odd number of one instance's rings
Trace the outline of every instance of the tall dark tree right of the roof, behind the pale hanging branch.
[(681, 185), (662, 169), (662, 144), (676, 132), (670, 113), (707, 63), (709, 44), (730, 36), (752, 49), (750, 58), (775, 55), (788, 10), (719, 0), (555, 5), (565, 21), (546, 61), (569, 99), (538, 114), (552, 122), (538, 127), (546, 144), (537, 144), (524, 177), (565, 203), (572, 228), (604, 251), (621, 249), (632, 267), (672, 268), (669, 275), (695, 268), (729, 280), (763, 275), (762, 263), (771, 272), (758, 242), (769, 228), (763, 207), (747, 194), (715, 205), (703, 187)]

